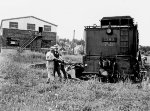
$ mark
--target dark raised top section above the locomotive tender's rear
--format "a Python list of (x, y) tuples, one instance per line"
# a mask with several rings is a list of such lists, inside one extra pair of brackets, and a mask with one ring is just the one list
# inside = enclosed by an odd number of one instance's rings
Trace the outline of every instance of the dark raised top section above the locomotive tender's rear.
[(101, 19), (101, 26), (115, 25), (115, 26), (133, 26), (133, 18), (130, 16), (114, 16), (103, 17)]

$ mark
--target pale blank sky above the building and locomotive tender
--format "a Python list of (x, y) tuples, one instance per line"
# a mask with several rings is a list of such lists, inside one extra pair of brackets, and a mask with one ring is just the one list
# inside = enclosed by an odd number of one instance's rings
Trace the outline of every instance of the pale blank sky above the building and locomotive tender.
[(149, 0), (0, 0), (2, 19), (35, 16), (58, 25), (59, 38), (83, 39), (84, 26), (105, 16), (126, 16), (138, 24), (139, 43), (150, 46)]

